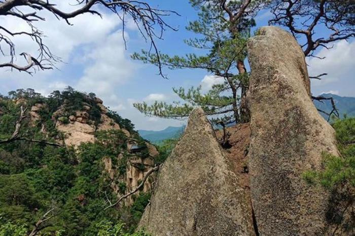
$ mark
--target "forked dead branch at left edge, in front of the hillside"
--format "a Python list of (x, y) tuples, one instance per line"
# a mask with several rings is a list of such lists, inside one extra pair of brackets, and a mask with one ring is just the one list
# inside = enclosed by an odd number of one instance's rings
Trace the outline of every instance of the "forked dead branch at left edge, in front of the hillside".
[(22, 122), (23, 122), (24, 119), (26, 119), (26, 118), (28, 117), (28, 116), (25, 114), (27, 108), (23, 108), (23, 106), (21, 106), (20, 108), (21, 108), (21, 113), (20, 113), (19, 119), (16, 121), (14, 133), (11, 135), (10, 138), (5, 139), (5, 140), (0, 140), (0, 144), (3, 144), (3, 143), (10, 143), (10, 142), (17, 141), (17, 140), (24, 140), (24, 141), (27, 141), (27, 142), (42, 143), (42, 144), (46, 144), (46, 145), (50, 145), (50, 146), (55, 146), (55, 147), (63, 147), (63, 145), (60, 145), (60, 144), (58, 144), (58, 143), (48, 142), (48, 141), (46, 141), (46, 140), (30, 139), (30, 138), (26, 138), (26, 137), (20, 136), (20, 129), (21, 129), (21, 126), (22, 126)]

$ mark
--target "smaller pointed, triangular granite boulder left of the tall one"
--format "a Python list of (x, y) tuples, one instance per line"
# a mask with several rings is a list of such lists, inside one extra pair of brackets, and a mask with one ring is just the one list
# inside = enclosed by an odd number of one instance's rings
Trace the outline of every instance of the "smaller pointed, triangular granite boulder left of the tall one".
[(203, 110), (162, 166), (140, 227), (153, 235), (255, 235), (250, 202)]

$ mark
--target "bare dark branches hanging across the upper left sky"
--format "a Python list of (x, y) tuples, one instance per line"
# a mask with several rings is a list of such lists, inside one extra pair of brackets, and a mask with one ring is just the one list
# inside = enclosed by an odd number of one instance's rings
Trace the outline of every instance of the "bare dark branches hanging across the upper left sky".
[[(68, 25), (70, 19), (75, 18), (82, 14), (92, 14), (101, 16), (101, 13), (97, 10), (96, 6), (102, 6), (105, 9), (113, 12), (119, 20), (122, 21), (123, 27), (123, 39), (125, 30), (125, 17), (128, 15), (132, 18), (138, 31), (141, 33), (146, 42), (151, 44), (151, 50), (157, 55), (158, 60), (160, 57), (158, 54), (158, 48), (156, 45), (156, 39), (162, 39), (162, 34), (166, 29), (177, 30), (170, 26), (163, 19), (164, 17), (170, 16), (171, 14), (179, 15), (174, 11), (161, 10), (157, 8), (152, 8), (148, 3), (136, 1), (136, 0), (77, 0), (77, 9), (72, 12), (63, 12), (60, 10), (56, 4), (50, 3), (50, 0), (8, 0), (0, 1), (0, 16), (11, 16), (15, 17), (19, 21), (26, 22), (30, 30), (13, 32), (12, 30), (6, 29), (4, 26), (0, 25), (0, 53), (3, 56), (10, 57), (10, 62), (0, 64), (0, 67), (9, 67), (11, 69), (17, 69), (19, 71), (29, 72), (30, 68), (36, 69), (51, 69), (55, 66), (56, 62), (61, 61), (60, 58), (56, 57), (51, 53), (50, 49), (44, 44), (43, 38), (44, 34), (41, 30), (33, 25), (35, 21), (45, 21), (45, 18), (40, 17), (39, 13), (41, 11), (47, 11), (53, 13), (57, 19), (63, 19)], [(20, 10), (26, 7), (30, 10), (30, 13), (24, 13)], [(1, 23), (0, 23), (1, 24)], [(20, 66), (14, 63), (15, 59), (15, 44), (13, 43), (13, 38), (18, 35), (26, 35), (29, 40), (33, 40), (38, 48), (38, 57), (28, 56), (26, 59), (28, 64), (25, 66)], [(3, 44), (3, 45), (2, 45)], [(3, 46), (3, 47), (2, 47)], [(9, 48), (9, 53), (3, 51), (4, 46)], [(27, 54), (28, 55), (28, 54)], [(29, 58), (31, 59), (29, 61)], [(31, 73), (30, 71), (29, 73)], [(163, 76), (162, 67), (159, 64), (159, 74)]]

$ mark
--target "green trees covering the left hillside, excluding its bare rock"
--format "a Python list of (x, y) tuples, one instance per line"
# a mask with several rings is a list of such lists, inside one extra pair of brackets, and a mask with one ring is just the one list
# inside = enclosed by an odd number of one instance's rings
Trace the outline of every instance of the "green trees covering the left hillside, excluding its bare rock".
[[(21, 135), (56, 140), (61, 137), (55, 129), (55, 112), (60, 107), (65, 115), (70, 115), (87, 103), (94, 107), (90, 120), (99, 123), (101, 113), (95, 108), (94, 97), (70, 87), (55, 91), (48, 98), (30, 89), (10, 92), (0, 100), (0, 139), (8, 138), (14, 131), (20, 106), (15, 101), (23, 99), (27, 107), (47, 104), (39, 111), (41, 119), (35, 124), (25, 120)], [(129, 120), (113, 111), (109, 114), (143, 143)], [(43, 126), (46, 134), (42, 132)], [(83, 143), (76, 150), (26, 141), (0, 145), (1, 236), (28, 235), (33, 225), (52, 209), (47, 215), (50, 219), (41, 225), (44, 227), (41, 235), (148, 235), (133, 232), (149, 203), (150, 193), (135, 196), (131, 207), (103, 210), (107, 200), (115, 201), (117, 195), (103, 171), (102, 160), (111, 158), (119, 175), (125, 173), (130, 156), (126, 135), (120, 130), (110, 130), (98, 131), (95, 137), (95, 143)], [(122, 160), (117, 159), (119, 153), (124, 153)], [(147, 155), (145, 150), (140, 154)], [(124, 183), (120, 186), (124, 192)]]

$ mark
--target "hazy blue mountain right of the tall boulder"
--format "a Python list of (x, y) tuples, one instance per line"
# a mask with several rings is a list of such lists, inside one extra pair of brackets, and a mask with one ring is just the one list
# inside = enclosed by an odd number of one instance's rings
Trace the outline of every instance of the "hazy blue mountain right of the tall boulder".
[[(347, 116), (355, 116), (355, 97), (341, 97), (335, 94), (330, 94), (330, 93), (325, 93), (321, 94), (323, 97), (333, 97), (334, 102), (335, 102), (335, 107), (339, 111), (340, 118), (346, 114)], [(313, 101), (314, 105), (316, 108), (319, 110), (323, 110), (327, 113), (332, 111), (332, 104), (330, 101)], [(320, 112), (321, 115), (325, 118), (328, 119), (328, 116), (322, 112)]]

